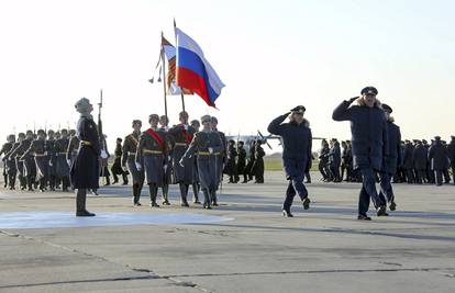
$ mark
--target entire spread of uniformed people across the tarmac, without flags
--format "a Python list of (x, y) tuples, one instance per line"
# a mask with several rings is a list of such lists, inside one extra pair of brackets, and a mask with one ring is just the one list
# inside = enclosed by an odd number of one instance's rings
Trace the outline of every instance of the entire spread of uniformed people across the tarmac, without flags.
[[(366, 87), (359, 97), (336, 106), (332, 117), (351, 122), (352, 138), (341, 143), (336, 138), (322, 139), (317, 155), (322, 181), (362, 183), (358, 219), (365, 221), (371, 219), (367, 214), (370, 201), (378, 216), (387, 216), (387, 210), (397, 209), (392, 183), (455, 184), (455, 136), (450, 143), (440, 136), (430, 142), (403, 139), (391, 116), (392, 108), (381, 103), (377, 94), (376, 88)], [(86, 209), (87, 193), (98, 194), (100, 179), (110, 185), (111, 172), (112, 184), (119, 183), (119, 177), (123, 185), (131, 183), (135, 207), (142, 205), (144, 183), (148, 185), (151, 207), (170, 205), (169, 185), (177, 184), (182, 207), (190, 206), (191, 191), (192, 203), (208, 210), (219, 206), (223, 174), (229, 183), (264, 183), (265, 140), (255, 139), (247, 148), (244, 142), (226, 140), (214, 116), (190, 122), (182, 111), (179, 123), (171, 127), (166, 115), (151, 114), (146, 127), (141, 120), (133, 120), (132, 133), (116, 138), (109, 169), (110, 154), (101, 120), (95, 123), (93, 106), (86, 98), (77, 101), (75, 109), (80, 114), (76, 129), (8, 135), (0, 150), (4, 188), (30, 192), (74, 190), (76, 215), (95, 216)], [(311, 203), (306, 184), (311, 183), (315, 153), (304, 113), (306, 108), (299, 105), (268, 125), (268, 132), (279, 136), (282, 145), (282, 167), (288, 180), (282, 204), (286, 217), (292, 217), (296, 195), (304, 210)]]

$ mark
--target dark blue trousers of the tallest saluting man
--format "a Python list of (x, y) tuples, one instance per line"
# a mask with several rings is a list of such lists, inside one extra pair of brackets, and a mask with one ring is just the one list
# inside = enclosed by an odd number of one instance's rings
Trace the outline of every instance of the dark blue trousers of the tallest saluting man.
[(379, 207), (381, 205), (386, 205), (377, 190), (376, 190), (376, 179), (375, 173), (371, 168), (360, 169), (363, 183), (362, 190), (358, 198), (358, 214), (366, 215), (369, 209), (369, 201), (371, 199), (375, 207)]

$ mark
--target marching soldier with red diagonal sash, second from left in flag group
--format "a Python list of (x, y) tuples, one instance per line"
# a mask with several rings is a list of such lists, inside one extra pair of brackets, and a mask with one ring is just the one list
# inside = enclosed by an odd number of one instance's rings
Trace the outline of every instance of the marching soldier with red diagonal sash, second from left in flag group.
[(158, 188), (163, 188), (165, 170), (167, 169), (166, 133), (158, 129), (159, 116), (152, 114), (148, 117), (151, 127), (143, 132), (136, 150), (136, 167), (144, 168), (151, 193), (152, 207), (159, 207), (156, 202)]

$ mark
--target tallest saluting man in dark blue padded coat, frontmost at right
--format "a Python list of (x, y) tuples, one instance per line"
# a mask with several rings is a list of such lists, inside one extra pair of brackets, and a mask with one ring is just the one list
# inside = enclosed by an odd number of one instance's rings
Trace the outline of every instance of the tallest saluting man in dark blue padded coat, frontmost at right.
[[(378, 90), (366, 87), (362, 97), (343, 101), (332, 114), (334, 121), (351, 121), (354, 169), (359, 169), (363, 185), (358, 202), (358, 219), (370, 221), (367, 216), (369, 200), (373, 200), (378, 216), (385, 216), (386, 202), (376, 190), (375, 171), (380, 171), (382, 158), (389, 156), (387, 142), (387, 121), (379, 101)], [(349, 106), (355, 100), (357, 105)]]

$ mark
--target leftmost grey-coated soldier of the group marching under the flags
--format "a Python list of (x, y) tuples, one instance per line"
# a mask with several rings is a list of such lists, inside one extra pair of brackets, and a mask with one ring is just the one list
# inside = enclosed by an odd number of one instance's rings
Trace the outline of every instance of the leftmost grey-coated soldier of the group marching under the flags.
[(133, 205), (141, 206), (140, 199), (145, 174), (144, 169), (138, 170), (136, 168), (135, 156), (141, 136), (142, 122), (140, 120), (133, 120), (132, 127), (133, 133), (129, 134), (123, 143), (122, 167), (124, 170), (127, 167), (133, 179)]

